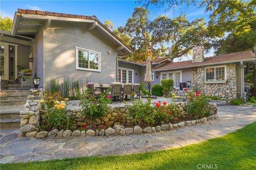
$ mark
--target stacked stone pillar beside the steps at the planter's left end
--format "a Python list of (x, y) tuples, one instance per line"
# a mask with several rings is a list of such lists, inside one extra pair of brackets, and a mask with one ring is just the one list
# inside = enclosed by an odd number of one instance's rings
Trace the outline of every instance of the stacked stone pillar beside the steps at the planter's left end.
[(20, 111), (20, 131), (27, 137), (35, 136), (39, 126), (39, 112), (41, 109), (40, 99), (44, 95), (43, 88), (30, 89), (24, 109)]

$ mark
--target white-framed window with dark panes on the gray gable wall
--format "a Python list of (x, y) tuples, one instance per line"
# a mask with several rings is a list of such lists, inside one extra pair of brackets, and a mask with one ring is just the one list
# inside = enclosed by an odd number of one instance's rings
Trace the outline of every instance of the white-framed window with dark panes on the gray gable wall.
[(99, 52), (76, 47), (76, 69), (100, 71)]

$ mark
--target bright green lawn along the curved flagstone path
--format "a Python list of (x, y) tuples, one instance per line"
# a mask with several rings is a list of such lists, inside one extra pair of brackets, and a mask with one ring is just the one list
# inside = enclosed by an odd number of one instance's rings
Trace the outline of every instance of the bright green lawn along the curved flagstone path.
[[(192, 127), (191, 127), (192, 128)], [(1, 164), (3, 169), (256, 169), (256, 122), (234, 133), (178, 149), (127, 156), (83, 157)], [(201, 165), (198, 165), (201, 168)], [(201, 168), (202, 169), (202, 168)]]

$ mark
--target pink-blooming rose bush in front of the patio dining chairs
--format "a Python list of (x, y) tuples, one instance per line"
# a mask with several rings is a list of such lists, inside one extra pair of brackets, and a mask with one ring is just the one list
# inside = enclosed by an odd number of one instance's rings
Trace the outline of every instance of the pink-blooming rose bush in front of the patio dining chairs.
[[(108, 91), (106, 92), (108, 94)], [(107, 114), (107, 104), (111, 102), (110, 95), (101, 94), (98, 98), (90, 96), (89, 88), (84, 99), (79, 103), (82, 107), (80, 112), (90, 120), (89, 128), (92, 127), (92, 120), (105, 116)]]

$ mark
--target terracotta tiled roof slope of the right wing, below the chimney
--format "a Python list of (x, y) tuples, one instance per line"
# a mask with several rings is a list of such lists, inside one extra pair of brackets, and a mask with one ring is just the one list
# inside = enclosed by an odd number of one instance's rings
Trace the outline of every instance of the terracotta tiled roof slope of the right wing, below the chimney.
[(215, 64), (218, 62), (225, 62), (225, 61), (236, 61), (236, 60), (243, 60), (243, 59), (255, 59), (255, 54), (252, 51), (241, 51), (236, 53), (229, 53), (229, 54), (222, 54), (216, 56), (210, 56), (204, 58), (204, 62), (197, 62), (193, 63), (192, 60), (188, 61), (179, 61), (179, 62), (170, 62), (164, 64), (162, 67), (158, 67), (154, 70), (168, 70), (168, 69), (175, 69), (175, 68), (184, 68), (184, 67), (196, 67), (199, 64)]

